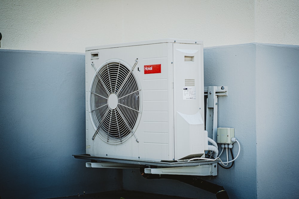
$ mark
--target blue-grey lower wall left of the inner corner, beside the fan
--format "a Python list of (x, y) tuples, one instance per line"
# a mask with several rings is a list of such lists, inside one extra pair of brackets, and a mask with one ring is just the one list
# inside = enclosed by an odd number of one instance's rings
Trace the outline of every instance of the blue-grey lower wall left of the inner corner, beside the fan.
[(86, 169), (84, 54), (0, 50), (0, 197), (121, 189), (119, 170)]

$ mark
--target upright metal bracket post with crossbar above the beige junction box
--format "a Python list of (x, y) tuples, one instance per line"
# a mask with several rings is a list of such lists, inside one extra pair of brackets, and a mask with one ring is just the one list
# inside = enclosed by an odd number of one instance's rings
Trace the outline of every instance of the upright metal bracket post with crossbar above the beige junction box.
[(227, 96), (227, 86), (209, 86), (205, 87), (207, 98), (206, 131), (208, 137), (217, 142), (218, 127), (218, 96)]

